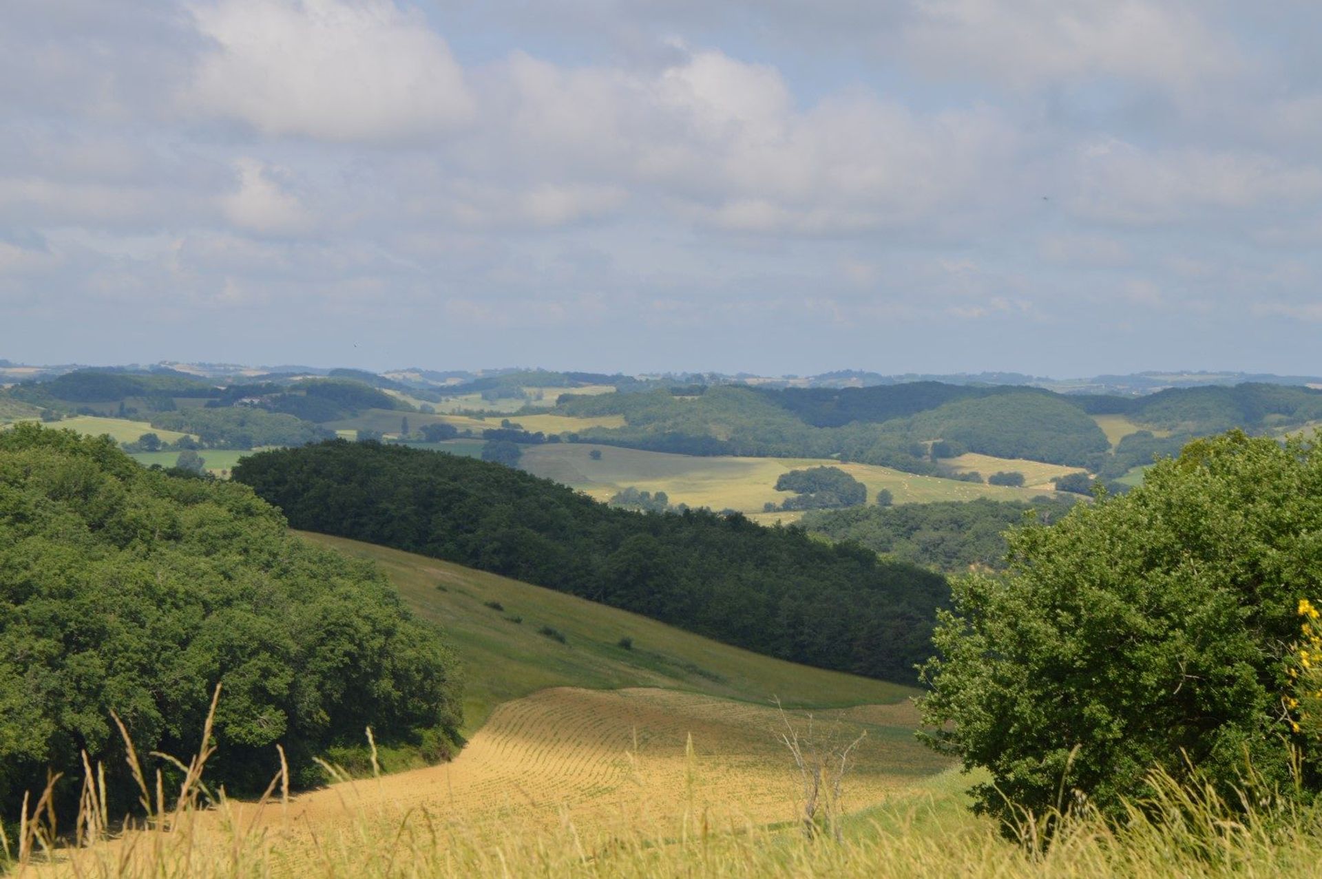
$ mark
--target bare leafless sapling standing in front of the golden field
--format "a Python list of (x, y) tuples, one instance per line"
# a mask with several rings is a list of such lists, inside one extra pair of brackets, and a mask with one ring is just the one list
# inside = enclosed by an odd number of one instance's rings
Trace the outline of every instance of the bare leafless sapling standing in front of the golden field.
[(838, 841), (842, 835), (839, 817), (843, 804), (845, 776), (850, 769), (850, 757), (854, 749), (867, 736), (863, 730), (853, 740), (845, 739), (845, 731), (838, 722), (830, 724), (825, 731), (818, 730), (813, 715), (798, 726), (791, 719), (780, 699), (776, 699), (776, 708), (780, 711), (780, 720), (784, 730), (777, 734), (798, 769), (802, 784), (802, 814), (800, 820), (804, 825), (804, 835), (809, 839), (821, 833), (821, 825), (830, 829), (832, 835)]

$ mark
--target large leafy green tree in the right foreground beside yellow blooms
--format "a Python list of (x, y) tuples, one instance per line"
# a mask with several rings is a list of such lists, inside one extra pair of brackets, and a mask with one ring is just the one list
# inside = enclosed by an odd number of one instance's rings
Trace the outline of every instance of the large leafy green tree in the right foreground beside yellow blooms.
[[(1191, 443), (1122, 497), (1009, 537), (1010, 568), (953, 586), (923, 669), (929, 740), (1009, 818), (1087, 797), (1105, 814), (1159, 768), (1224, 790), (1318, 786), (1286, 714), (1302, 597), (1322, 592), (1322, 451), (1239, 432)], [(1011, 806), (1010, 804), (1014, 804)]]

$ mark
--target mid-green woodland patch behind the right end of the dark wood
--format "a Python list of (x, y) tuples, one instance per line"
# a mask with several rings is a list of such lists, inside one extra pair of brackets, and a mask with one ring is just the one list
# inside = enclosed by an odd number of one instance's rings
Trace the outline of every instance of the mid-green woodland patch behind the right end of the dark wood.
[(800, 525), (833, 541), (854, 541), (914, 564), (966, 571), (972, 566), (1003, 568), (1003, 533), (1023, 522), (1026, 514), (1054, 522), (1072, 506), (1073, 501), (1048, 497), (1032, 504), (978, 498), (809, 513)]

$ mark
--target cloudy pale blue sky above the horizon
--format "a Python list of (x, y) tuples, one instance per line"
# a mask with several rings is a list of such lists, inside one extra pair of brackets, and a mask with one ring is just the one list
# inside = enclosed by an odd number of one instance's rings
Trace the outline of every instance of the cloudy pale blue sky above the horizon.
[(1322, 373), (1314, 0), (4, 0), (0, 358)]

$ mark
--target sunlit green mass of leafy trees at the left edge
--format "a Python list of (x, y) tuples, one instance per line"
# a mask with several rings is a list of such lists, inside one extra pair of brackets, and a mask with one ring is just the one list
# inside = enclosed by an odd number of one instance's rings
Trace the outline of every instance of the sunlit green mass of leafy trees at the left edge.
[(111, 711), (144, 760), (186, 759), (217, 682), (208, 772), (231, 793), (264, 788), (278, 743), (307, 784), (312, 757), (366, 726), (439, 757), (460, 720), (439, 634), (370, 566), (290, 537), (247, 486), (143, 469), (106, 438), (0, 432), (0, 816), (48, 768), (77, 797), (82, 751), (122, 814), (137, 793)]

